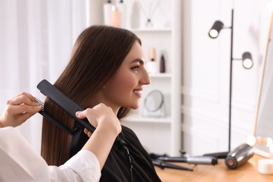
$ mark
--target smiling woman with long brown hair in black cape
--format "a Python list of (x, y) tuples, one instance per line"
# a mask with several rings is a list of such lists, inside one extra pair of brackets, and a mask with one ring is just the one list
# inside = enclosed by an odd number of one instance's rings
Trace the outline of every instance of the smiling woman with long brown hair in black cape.
[[(144, 64), (141, 41), (131, 31), (92, 26), (78, 36), (70, 62), (54, 85), (84, 109), (103, 103), (121, 120), (130, 109), (139, 108), (141, 90), (150, 83)], [(48, 98), (45, 110), (73, 127), (73, 118)], [(62, 165), (87, 139), (83, 130), (71, 136), (43, 118), (41, 155), (50, 165)], [(124, 126), (100, 180), (160, 181), (136, 134)]]

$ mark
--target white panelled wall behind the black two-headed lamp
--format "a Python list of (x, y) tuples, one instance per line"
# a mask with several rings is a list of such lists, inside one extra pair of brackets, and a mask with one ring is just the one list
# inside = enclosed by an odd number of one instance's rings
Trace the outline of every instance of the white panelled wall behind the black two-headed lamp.
[(234, 8), (233, 57), (251, 52), (246, 70), (233, 61), (231, 149), (253, 134), (262, 57), (269, 25), (265, 0), (183, 1), (183, 150), (190, 155), (228, 151), (230, 29), (208, 36), (216, 20), (231, 25)]

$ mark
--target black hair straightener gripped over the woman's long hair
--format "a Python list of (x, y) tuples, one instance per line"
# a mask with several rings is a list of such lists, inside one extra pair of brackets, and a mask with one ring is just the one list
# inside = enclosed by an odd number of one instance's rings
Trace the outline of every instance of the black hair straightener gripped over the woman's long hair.
[(59, 91), (51, 83), (49, 83), (48, 80), (41, 80), (41, 82), (38, 83), (37, 88), (41, 91), (42, 94), (49, 97), (53, 102), (61, 106), (62, 109), (73, 116), (73, 118), (76, 120), (76, 123), (78, 123), (81, 127), (85, 127), (90, 132), (94, 132), (95, 128), (89, 123), (87, 118), (81, 120), (76, 117), (76, 111), (83, 111), (84, 109), (69, 99), (69, 97)]

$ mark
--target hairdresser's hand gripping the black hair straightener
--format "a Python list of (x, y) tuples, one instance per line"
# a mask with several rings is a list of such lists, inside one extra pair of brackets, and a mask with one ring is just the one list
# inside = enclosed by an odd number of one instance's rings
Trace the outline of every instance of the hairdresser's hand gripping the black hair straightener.
[[(116, 136), (121, 132), (120, 120), (118, 120), (116, 114), (111, 107), (105, 104), (98, 104), (92, 109), (85, 109), (85, 111), (78, 111), (76, 116), (80, 119), (87, 118), (96, 130), (103, 130), (104, 132), (114, 132)], [(86, 128), (85, 134), (90, 137), (92, 135)]]

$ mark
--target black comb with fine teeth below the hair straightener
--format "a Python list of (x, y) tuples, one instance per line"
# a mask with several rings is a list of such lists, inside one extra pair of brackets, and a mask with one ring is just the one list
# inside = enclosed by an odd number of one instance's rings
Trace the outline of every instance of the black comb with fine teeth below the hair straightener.
[(40, 104), (40, 106), (42, 107), (42, 110), (40, 112), (38, 112), (41, 114), (41, 116), (48, 119), (54, 125), (57, 125), (57, 127), (64, 130), (64, 132), (68, 132), (71, 135), (76, 134), (76, 132), (78, 132), (79, 128), (76, 127), (76, 125), (74, 125), (73, 129), (71, 129), (71, 128), (67, 127), (66, 125), (59, 123), (57, 120), (55, 120), (52, 116), (50, 116), (47, 112), (45, 112), (45, 104), (40, 99), (38, 99), (36, 97), (35, 97), (35, 99), (38, 102), (38, 104)]

